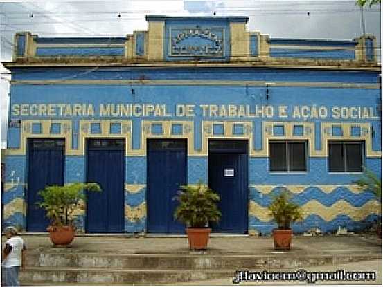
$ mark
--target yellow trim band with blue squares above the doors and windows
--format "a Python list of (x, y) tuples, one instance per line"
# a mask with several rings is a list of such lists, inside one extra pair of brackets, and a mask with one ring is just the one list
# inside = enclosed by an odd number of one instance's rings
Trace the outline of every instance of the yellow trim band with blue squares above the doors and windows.
[[(61, 124), (60, 133), (51, 133), (51, 124)], [(100, 133), (91, 133), (91, 124), (100, 124)], [(121, 133), (111, 133), (112, 123), (121, 123)], [(33, 133), (33, 124), (41, 124), (41, 133)], [(366, 143), (366, 157), (380, 158), (381, 151), (373, 150), (371, 139), (370, 122), (321, 122), (321, 150), (315, 149), (315, 124), (314, 122), (262, 122), (262, 147), (254, 149), (253, 121), (235, 120), (203, 120), (202, 121), (202, 148), (195, 149), (195, 130), (193, 120), (142, 120), (141, 121), (141, 147), (132, 147), (132, 120), (80, 120), (78, 131), (78, 149), (72, 148), (72, 122), (71, 120), (23, 120), (21, 122), (21, 139), (18, 149), (7, 149), (7, 155), (26, 155), (28, 138), (64, 138), (65, 153), (67, 155), (84, 155), (87, 138), (123, 138), (125, 139), (125, 152), (127, 156), (145, 156), (146, 140), (150, 138), (184, 138), (188, 141), (188, 156), (208, 156), (209, 139), (233, 139), (249, 141), (249, 156), (267, 158), (269, 156), (270, 140), (307, 140), (309, 157), (327, 157), (328, 140), (363, 140)], [(161, 133), (152, 133), (152, 126), (161, 124)], [(182, 133), (173, 134), (172, 124), (180, 124)], [(220, 124), (224, 133), (214, 134), (213, 127)], [(240, 124), (243, 127), (242, 134), (235, 134), (233, 127)], [(274, 127), (283, 127), (283, 134), (274, 135)], [(303, 133), (294, 135), (294, 126), (301, 126)], [(332, 128), (339, 127), (342, 133), (339, 136), (332, 135)], [(351, 136), (351, 128), (359, 127), (360, 135)], [(379, 132), (379, 131), (377, 131)]]

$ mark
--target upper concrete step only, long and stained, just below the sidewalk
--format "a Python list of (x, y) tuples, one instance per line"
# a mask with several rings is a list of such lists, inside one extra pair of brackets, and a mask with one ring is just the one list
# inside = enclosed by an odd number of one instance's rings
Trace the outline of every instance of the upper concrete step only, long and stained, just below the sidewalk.
[(380, 259), (381, 254), (130, 254), (103, 252), (42, 252), (27, 255), (28, 267), (124, 268), (141, 270), (217, 270), (299, 268)]

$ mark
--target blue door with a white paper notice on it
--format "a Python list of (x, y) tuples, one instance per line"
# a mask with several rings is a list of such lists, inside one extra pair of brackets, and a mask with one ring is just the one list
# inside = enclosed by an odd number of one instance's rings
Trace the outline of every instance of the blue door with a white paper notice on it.
[(247, 141), (209, 142), (208, 183), (222, 212), (213, 231), (247, 233)]

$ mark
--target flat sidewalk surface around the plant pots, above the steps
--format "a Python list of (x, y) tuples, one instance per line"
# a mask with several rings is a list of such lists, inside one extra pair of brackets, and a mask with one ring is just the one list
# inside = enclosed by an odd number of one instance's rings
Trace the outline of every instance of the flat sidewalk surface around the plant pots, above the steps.
[[(52, 247), (47, 234), (23, 235), (28, 250)], [(4, 239), (4, 237), (3, 237)], [(186, 237), (127, 237), (85, 236), (76, 237), (73, 252), (121, 251), (132, 253), (189, 253)], [(209, 254), (382, 254), (382, 239), (375, 234), (349, 236), (302, 237), (295, 236), (292, 250), (277, 252), (271, 237), (212, 237)], [(57, 248), (54, 248), (57, 249)], [(281, 255), (282, 256), (282, 255)]]

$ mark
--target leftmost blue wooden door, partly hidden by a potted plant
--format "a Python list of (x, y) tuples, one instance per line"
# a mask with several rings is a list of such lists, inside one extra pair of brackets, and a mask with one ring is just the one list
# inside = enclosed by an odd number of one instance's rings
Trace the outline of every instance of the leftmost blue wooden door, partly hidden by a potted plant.
[(26, 191), (28, 232), (46, 232), (49, 220), (36, 203), (38, 192), (47, 185), (64, 185), (64, 149), (62, 139), (30, 139), (28, 141), (28, 189)]

